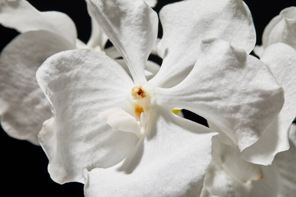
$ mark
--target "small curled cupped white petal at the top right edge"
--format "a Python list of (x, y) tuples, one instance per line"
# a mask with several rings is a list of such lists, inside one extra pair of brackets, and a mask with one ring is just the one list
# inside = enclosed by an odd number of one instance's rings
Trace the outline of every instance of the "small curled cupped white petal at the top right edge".
[(262, 44), (264, 48), (283, 42), (296, 49), (296, 7), (287, 7), (274, 17), (264, 29)]

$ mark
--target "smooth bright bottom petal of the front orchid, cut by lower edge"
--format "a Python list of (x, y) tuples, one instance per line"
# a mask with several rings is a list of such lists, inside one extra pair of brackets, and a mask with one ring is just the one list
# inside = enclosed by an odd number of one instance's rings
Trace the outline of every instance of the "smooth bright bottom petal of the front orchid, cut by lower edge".
[(85, 197), (200, 195), (214, 133), (169, 110), (160, 110), (154, 114), (156, 123), (151, 131), (122, 163), (88, 172)]

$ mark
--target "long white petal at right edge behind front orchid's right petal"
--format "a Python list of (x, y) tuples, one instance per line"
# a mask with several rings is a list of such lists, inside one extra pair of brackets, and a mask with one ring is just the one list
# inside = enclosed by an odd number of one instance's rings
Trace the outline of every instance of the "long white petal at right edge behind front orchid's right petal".
[(283, 87), (285, 103), (277, 118), (260, 139), (242, 152), (244, 159), (255, 164), (271, 164), (274, 156), (289, 148), (288, 130), (296, 117), (296, 50), (277, 43), (267, 47), (260, 59)]

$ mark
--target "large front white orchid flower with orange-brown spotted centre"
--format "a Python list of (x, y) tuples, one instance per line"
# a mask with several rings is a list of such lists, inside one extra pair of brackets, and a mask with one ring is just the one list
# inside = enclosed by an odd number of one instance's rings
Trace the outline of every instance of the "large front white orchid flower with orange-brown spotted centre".
[[(54, 112), (39, 133), (51, 178), (84, 183), (83, 170), (91, 170), (85, 171), (87, 197), (198, 195), (213, 133), (170, 110), (185, 108), (237, 128), (227, 134), (238, 136), (233, 140), (244, 147), (282, 107), (281, 87), (248, 55), (255, 45), (249, 9), (241, 0), (165, 6), (158, 45), (163, 64), (147, 81), (144, 65), (157, 35), (155, 12), (134, 0), (88, 3), (132, 79), (94, 50), (61, 52), (39, 67), (37, 81)], [(203, 40), (208, 37), (228, 42)], [(273, 107), (266, 111), (266, 106)]]

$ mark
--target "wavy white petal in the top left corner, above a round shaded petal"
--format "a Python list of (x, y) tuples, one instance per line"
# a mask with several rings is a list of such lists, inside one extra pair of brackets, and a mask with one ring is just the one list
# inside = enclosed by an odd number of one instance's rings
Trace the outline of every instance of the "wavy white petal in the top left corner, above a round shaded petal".
[(26, 0), (1, 0), (0, 24), (21, 33), (46, 30), (72, 44), (77, 37), (75, 24), (68, 15), (56, 11), (39, 12)]

